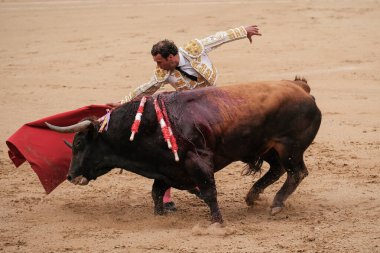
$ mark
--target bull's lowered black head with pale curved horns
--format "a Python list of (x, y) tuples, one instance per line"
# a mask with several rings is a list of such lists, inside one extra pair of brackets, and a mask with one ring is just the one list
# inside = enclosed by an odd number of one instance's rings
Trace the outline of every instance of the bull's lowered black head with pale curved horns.
[(98, 133), (97, 122), (84, 120), (72, 126), (58, 127), (46, 122), (54, 131), (76, 133), (73, 143), (66, 143), (72, 149), (72, 160), (67, 180), (74, 184), (86, 185), (90, 180), (107, 173), (112, 167), (105, 164), (106, 145), (99, 145), (102, 138)]

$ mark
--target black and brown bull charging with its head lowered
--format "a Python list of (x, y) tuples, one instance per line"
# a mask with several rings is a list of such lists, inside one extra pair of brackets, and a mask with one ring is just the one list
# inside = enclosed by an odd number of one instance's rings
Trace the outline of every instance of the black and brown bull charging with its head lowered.
[(113, 111), (108, 130), (102, 133), (93, 120), (51, 128), (78, 132), (68, 174), (73, 183), (87, 184), (113, 168), (126, 169), (154, 179), (156, 214), (164, 213), (163, 195), (169, 187), (196, 189), (209, 206), (212, 221), (223, 222), (214, 173), (230, 163), (242, 161), (251, 172), (259, 170), (263, 161), (270, 165), (249, 190), (248, 205), (287, 172), (273, 200), (272, 214), (283, 208), (284, 201), (307, 176), (303, 154), (321, 123), (321, 112), (309, 91), (306, 80), (296, 78), (160, 94), (178, 142), (179, 162), (163, 139), (151, 97), (132, 142), (131, 125), (139, 101)]

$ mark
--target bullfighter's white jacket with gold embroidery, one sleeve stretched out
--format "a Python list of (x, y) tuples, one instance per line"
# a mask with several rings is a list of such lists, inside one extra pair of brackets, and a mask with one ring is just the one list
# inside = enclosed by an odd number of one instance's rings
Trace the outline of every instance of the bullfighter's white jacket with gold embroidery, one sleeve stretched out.
[(213, 86), (216, 83), (218, 72), (212, 64), (207, 53), (218, 46), (238, 39), (247, 37), (247, 31), (243, 26), (217, 32), (204, 39), (193, 39), (179, 48), (181, 53), (198, 73), (196, 81), (183, 76), (178, 70), (164, 70), (157, 67), (149, 82), (140, 85), (129, 93), (122, 103), (136, 97), (150, 96), (165, 84), (171, 84), (176, 90), (191, 90), (199, 87)]

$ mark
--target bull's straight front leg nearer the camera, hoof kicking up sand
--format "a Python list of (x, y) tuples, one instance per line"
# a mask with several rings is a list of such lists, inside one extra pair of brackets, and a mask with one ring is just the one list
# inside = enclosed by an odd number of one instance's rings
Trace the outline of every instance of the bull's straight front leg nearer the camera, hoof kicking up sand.
[(199, 196), (210, 208), (211, 222), (223, 223), (217, 200), (212, 156), (207, 151), (189, 152), (186, 167), (199, 188)]

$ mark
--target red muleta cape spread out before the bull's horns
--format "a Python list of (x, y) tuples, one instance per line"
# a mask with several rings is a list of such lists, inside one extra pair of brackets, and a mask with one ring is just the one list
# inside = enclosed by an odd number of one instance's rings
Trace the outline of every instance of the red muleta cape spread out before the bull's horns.
[(106, 105), (90, 105), (27, 123), (6, 141), (9, 157), (16, 167), (28, 161), (49, 194), (66, 179), (71, 150), (63, 140), (72, 142), (74, 133), (52, 131), (45, 122), (69, 126), (86, 117), (101, 117), (106, 109), (109, 109)]

